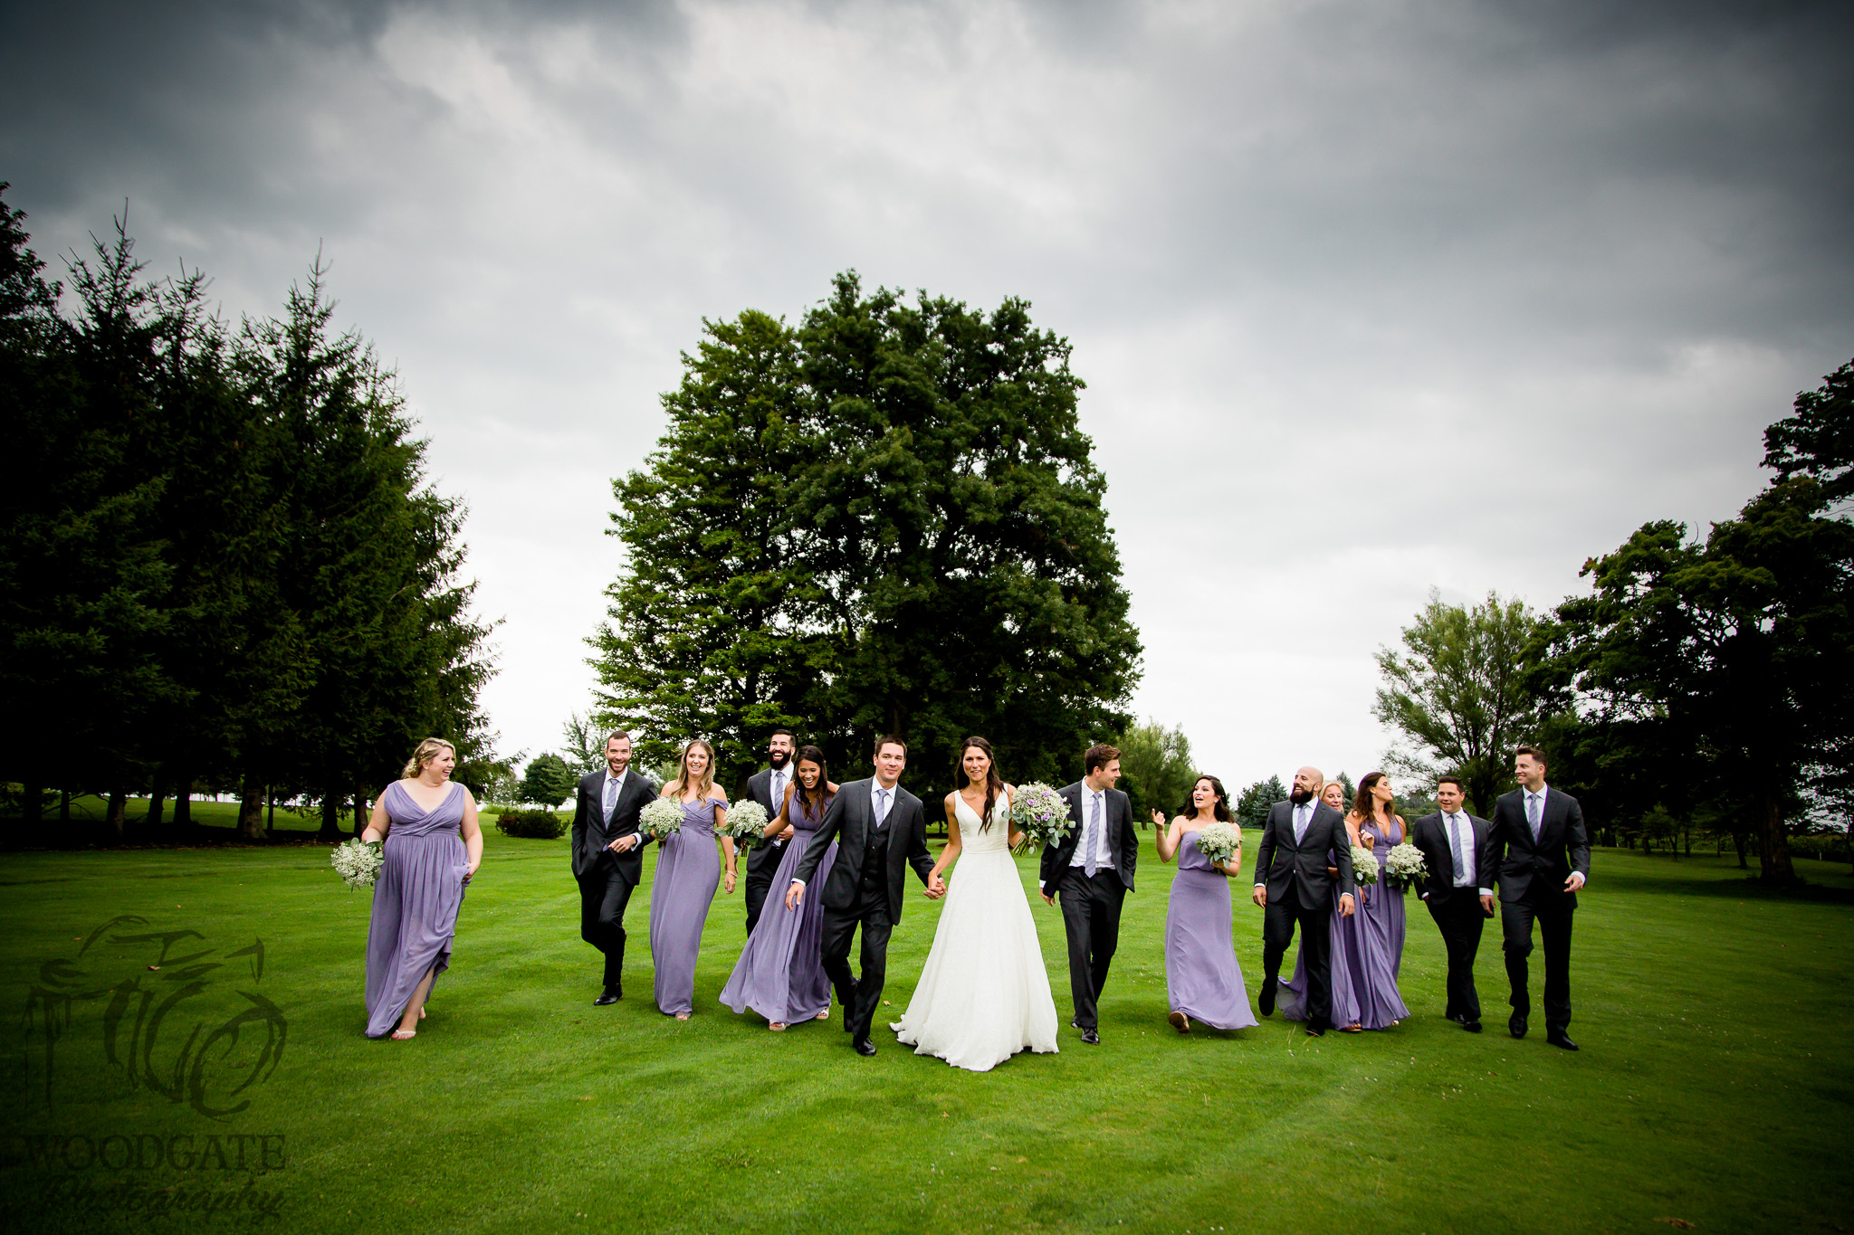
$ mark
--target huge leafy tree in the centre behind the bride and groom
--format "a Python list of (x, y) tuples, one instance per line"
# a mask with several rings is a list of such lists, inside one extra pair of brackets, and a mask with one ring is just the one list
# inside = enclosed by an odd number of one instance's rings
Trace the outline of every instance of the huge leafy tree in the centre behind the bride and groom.
[(732, 778), (781, 722), (845, 776), (883, 731), (914, 785), (970, 733), (1012, 780), (1079, 776), (1129, 720), (1140, 646), (1068, 344), (1018, 300), (907, 304), (855, 274), (797, 330), (706, 335), (658, 454), (614, 485), (630, 563), (601, 718), (653, 759), (714, 737)]

